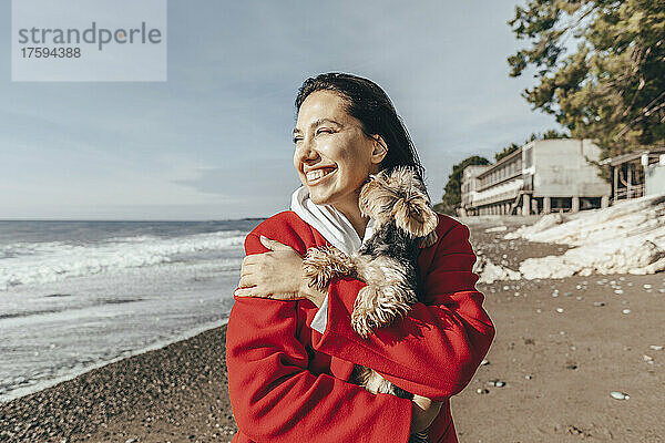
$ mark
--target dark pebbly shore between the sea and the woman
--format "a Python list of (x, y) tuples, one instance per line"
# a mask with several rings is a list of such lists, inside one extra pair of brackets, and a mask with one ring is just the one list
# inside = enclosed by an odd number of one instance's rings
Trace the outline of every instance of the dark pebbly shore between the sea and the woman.
[(226, 442), (226, 327), (0, 404), (2, 442)]

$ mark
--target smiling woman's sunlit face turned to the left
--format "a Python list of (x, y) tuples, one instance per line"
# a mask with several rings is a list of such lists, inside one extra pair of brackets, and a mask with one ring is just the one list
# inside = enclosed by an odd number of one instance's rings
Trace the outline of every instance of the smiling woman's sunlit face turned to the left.
[[(358, 190), (379, 171), (386, 155), (382, 143), (367, 136), (361, 123), (346, 111), (331, 91), (305, 99), (294, 130), (294, 166), (317, 205), (358, 205)], [(382, 141), (381, 141), (382, 142)]]

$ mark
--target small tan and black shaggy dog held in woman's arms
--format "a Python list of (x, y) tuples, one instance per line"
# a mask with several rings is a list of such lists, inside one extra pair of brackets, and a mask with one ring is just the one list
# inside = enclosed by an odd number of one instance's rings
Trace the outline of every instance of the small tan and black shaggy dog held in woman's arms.
[[(303, 262), (309, 286), (324, 292), (332, 278), (351, 276), (367, 284), (356, 298), (351, 326), (367, 338), (376, 328), (408, 313), (411, 305), (424, 301), (418, 276), (418, 253), (437, 241), (439, 223), (430, 207), (426, 187), (415, 168), (399, 166), (371, 176), (360, 189), (359, 207), (375, 230), (360, 250), (347, 256), (334, 247), (309, 248)], [(376, 371), (356, 365), (352, 379), (372, 393), (403, 399), (413, 394), (396, 387)], [(427, 442), (427, 433), (409, 442)]]

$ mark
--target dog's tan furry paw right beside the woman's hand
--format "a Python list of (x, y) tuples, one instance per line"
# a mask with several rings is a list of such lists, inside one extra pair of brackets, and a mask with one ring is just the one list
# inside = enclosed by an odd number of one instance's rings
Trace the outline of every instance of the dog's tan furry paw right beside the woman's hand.
[(307, 249), (303, 260), (303, 276), (309, 280), (310, 287), (324, 292), (334, 277), (352, 275), (354, 269), (346, 254), (327, 246)]

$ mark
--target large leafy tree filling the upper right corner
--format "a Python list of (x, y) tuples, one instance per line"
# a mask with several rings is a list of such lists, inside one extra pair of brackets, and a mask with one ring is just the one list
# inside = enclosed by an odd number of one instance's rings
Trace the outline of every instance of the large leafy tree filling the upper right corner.
[(534, 109), (603, 157), (665, 143), (665, 1), (529, 0), (509, 24), (529, 41), (508, 62), (536, 69)]

